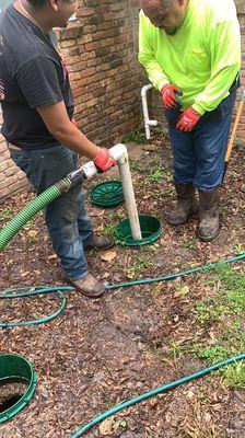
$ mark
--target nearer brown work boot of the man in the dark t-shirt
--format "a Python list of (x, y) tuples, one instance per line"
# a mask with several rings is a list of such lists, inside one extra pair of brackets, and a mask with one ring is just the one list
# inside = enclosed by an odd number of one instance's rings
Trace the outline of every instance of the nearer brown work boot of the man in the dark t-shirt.
[(80, 280), (71, 280), (70, 278), (67, 278), (67, 280), (85, 297), (100, 298), (104, 295), (105, 285), (91, 274), (86, 274)]

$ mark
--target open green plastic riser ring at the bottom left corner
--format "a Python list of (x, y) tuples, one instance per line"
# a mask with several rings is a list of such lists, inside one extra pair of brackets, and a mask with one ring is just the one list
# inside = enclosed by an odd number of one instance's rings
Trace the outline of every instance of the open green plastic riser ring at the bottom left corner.
[(0, 355), (0, 387), (13, 382), (26, 383), (27, 389), (16, 403), (0, 412), (0, 423), (7, 422), (27, 405), (37, 384), (37, 376), (28, 360), (18, 355)]

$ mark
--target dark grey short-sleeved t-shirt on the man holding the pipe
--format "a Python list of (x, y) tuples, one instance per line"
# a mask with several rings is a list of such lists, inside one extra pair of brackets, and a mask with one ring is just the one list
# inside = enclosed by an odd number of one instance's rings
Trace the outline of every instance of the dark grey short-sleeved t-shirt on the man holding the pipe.
[(12, 4), (0, 14), (2, 135), (24, 150), (59, 145), (46, 128), (37, 106), (63, 101), (72, 118), (69, 78), (54, 38), (52, 32), (44, 35)]

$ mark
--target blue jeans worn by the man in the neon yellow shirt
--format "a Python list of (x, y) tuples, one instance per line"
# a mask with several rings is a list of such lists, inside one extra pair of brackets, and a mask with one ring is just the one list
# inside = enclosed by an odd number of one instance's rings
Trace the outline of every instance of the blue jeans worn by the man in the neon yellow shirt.
[(176, 129), (178, 111), (165, 111), (174, 155), (174, 181), (209, 191), (222, 182), (236, 90), (212, 112), (206, 113), (190, 132)]

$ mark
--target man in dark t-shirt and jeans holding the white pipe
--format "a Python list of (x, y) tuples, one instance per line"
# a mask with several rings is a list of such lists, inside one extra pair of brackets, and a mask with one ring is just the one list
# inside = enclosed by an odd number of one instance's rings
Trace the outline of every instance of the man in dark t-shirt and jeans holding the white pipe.
[[(78, 154), (103, 172), (115, 164), (72, 120), (69, 77), (51, 28), (66, 26), (75, 9), (75, 0), (16, 0), (0, 14), (2, 135), (37, 194), (74, 171)], [(102, 296), (104, 285), (88, 272), (84, 249), (113, 241), (93, 233), (81, 188), (48, 205), (45, 220), (66, 278), (88, 297)]]

